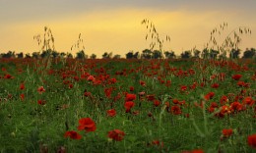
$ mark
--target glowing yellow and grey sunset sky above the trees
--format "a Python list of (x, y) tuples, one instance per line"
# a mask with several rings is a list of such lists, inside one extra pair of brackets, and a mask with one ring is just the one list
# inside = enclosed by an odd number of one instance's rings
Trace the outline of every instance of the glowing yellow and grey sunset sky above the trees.
[(202, 50), (212, 29), (224, 22), (228, 28), (223, 37), (247, 26), (252, 34), (241, 37), (240, 48), (256, 48), (255, 8), (256, 0), (0, 0), (0, 53), (39, 51), (32, 37), (48, 26), (59, 52), (71, 52), (82, 33), (86, 54), (124, 57), (149, 48), (146, 26), (141, 25), (146, 18), (161, 38), (170, 36), (163, 49), (176, 55), (195, 46)]

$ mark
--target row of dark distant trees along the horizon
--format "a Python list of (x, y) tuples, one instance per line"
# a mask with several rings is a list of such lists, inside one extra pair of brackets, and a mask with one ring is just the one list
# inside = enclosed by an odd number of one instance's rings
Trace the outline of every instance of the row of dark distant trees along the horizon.
[[(176, 56), (174, 51), (164, 51), (163, 53), (160, 50), (150, 50), (144, 49), (141, 53), (139, 51), (129, 51), (125, 54), (126, 59), (162, 59), (163, 56), (165, 59), (189, 59), (189, 58), (203, 58), (203, 59), (224, 59), (224, 58), (231, 58), (231, 59), (238, 59), (241, 54), (240, 49), (231, 49), (228, 54), (221, 53), (218, 50), (214, 49), (203, 49), (202, 51), (194, 49), (194, 50), (187, 50), (183, 51), (180, 55)], [(84, 50), (78, 51), (76, 56), (73, 56), (69, 52), (57, 52), (55, 50), (44, 50), (41, 52), (32, 52), (32, 54), (27, 53), (24, 54), (23, 52), (15, 53), (15, 51), (8, 51), (7, 53), (1, 53), (0, 58), (45, 58), (45, 57), (52, 57), (52, 58), (76, 58), (76, 59), (96, 59), (96, 54), (87, 55)], [(228, 56), (228, 57), (227, 57)], [(256, 57), (256, 49), (255, 48), (246, 48), (243, 52), (241, 58), (255, 58)], [(113, 55), (112, 52), (104, 52), (102, 54), (102, 59), (120, 59), (121, 56), (116, 54)]]

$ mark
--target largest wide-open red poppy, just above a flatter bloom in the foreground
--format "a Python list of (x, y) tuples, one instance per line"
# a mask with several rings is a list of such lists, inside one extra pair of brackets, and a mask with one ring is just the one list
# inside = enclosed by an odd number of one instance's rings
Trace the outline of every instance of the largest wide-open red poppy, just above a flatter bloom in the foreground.
[(95, 131), (96, 123), (91, 118), (82, 118), (79, 120), (79, 130)]

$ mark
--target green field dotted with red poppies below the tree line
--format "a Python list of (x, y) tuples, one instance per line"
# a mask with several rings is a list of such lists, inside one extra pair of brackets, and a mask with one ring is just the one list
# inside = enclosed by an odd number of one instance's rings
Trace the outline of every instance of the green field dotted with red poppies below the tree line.
[(0, 151), (255, 152), (255, 61), (0, 59)]

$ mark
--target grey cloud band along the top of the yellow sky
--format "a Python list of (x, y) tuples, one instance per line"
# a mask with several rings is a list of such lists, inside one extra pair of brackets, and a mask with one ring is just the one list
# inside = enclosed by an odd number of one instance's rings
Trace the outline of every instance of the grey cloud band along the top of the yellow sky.
[(141, 9), (175, 12), (231, 11), (256, 13), (255, 0), (8, 0), (0, 1), (0, 20), (22, 22), (77, 16), (84, 12)]

